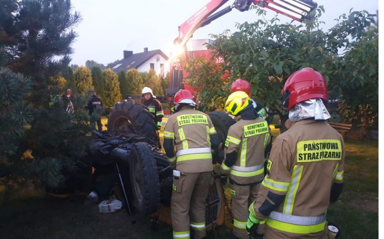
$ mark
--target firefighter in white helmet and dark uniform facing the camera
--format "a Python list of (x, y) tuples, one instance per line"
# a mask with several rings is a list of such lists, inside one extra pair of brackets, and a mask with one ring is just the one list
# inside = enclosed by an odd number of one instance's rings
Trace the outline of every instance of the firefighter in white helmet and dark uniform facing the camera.
[(158, 145), (161, 149), (161, 143), (160, 143), (160, 137), (159, 137), (159, 130), (162, 126), (162, 120), (164, 117), (163, 107), (160, 101), (156, 99), (156, 96), (154, 96), (153, 91), (149, 87), (144, 87), (142, 92), (142, 96), (144, 97), (143, 104), (148, 107), (148, 111), (154, 116), (154, 121), (157, 126), (157, 135), (158, 135)]

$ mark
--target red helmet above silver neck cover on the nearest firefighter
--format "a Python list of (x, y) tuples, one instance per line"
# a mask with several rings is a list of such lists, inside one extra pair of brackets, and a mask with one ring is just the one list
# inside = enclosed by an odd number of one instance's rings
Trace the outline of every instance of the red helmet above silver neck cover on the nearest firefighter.
[(282, 93), (283, 107), (287, 110), (309, 99), (328, 100), (327, 83), (323, 75), (312, 68), (294, 72), (285, 82)]

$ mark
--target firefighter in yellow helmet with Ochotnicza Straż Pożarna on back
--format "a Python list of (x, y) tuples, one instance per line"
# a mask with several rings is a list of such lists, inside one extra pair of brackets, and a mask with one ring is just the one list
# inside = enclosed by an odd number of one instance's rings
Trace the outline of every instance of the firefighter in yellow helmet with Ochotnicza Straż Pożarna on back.
[(225, 140), (221, 173), (229, 174), (232, 197), (233, 231), (235, 239), (248, 239), (245, 225), (248, 207), (256, 198), (264, 177), (264, 150), (270, 140), (267, 121), (258, 118), (248, 94), (232, 93), (225, 111), (237, 118)]

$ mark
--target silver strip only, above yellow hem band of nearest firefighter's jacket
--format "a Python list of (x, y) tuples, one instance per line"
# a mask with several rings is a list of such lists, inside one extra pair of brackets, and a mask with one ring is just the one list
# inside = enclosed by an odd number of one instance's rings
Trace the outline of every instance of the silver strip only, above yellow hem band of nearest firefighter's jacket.
[(327, 215), (323, 214), (317, 217), (302, 217), (302, 216), (287, 215), (287, 214), (272, 211), (269, 214), (268, 218), (271, 218), (273, 220), (283, 222), (283, 223), (309, 226), (309, 225), (316, 225), (319, 223), (323, 223), (324, 221), (327, 220)]

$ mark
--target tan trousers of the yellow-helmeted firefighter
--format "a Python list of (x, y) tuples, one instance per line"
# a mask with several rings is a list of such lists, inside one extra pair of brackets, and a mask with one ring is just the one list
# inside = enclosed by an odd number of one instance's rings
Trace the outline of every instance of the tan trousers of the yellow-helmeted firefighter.
[(248, 208), (256, 199), (261, 183), (251, 185), (231, 184), (233, 234), (240, 239), (248, 239), (245, 226), (248, 220)]

